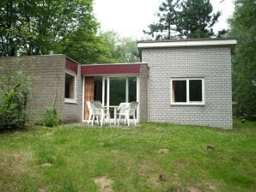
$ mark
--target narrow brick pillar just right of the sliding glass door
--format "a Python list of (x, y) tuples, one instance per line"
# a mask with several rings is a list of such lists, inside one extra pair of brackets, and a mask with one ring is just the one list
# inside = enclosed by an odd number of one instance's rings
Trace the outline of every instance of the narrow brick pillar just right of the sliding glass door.
[(146, 63), (140, 64), (139, 84), (140, 84), (140, 122), (148, 121), (148, 76), (149, 68)]

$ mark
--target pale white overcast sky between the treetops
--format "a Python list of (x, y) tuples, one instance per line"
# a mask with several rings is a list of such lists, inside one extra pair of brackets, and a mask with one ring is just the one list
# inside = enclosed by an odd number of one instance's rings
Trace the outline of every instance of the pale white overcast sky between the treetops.
[[(211, 0), (213, 11), (220, 10), (222, 15), (214, 26), (217, 32), (228, 28), (233, 15), (234, 0)], [(94, 0), (94, 15), (101, 23), (102, 31), (113, 30), (123, 37), (145, 39), (143, 29), (157, 21), (155, 13), (163, 0)]]

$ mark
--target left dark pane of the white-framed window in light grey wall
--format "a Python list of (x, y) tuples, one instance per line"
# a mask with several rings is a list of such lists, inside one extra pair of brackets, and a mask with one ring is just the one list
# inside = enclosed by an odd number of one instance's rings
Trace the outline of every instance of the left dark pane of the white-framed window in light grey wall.
[(173, 81), (173, 101), (186, 102), (186, 81)]

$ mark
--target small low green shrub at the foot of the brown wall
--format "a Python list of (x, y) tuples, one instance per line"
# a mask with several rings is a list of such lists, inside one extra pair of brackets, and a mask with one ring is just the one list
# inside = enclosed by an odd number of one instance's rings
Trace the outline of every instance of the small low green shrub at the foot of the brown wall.
[(38, 123), (39, 125), (45, 125), (46, 127), (54, 127), (60, 123), (57, 111), (54, 107), (48, 107), (42, 120)]

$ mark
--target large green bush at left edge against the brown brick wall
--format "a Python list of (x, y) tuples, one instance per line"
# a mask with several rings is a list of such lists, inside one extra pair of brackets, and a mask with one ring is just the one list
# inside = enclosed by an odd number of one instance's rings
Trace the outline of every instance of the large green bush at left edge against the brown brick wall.
[(27, 122), (27, 98), (31, 93), (30, 77), (9, 69), (0, 76), (0, 129), (20, 129)]

